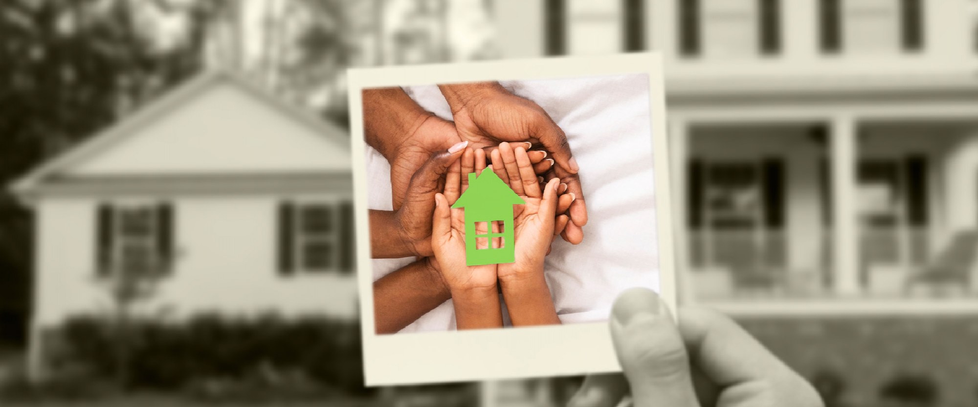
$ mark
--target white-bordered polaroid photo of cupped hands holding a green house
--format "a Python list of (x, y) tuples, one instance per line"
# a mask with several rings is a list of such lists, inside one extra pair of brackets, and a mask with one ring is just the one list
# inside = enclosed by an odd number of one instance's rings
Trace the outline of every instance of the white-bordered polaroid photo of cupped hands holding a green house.
[(615, 297), (675, 309), (658, 54), (348, 84), (367, 385), (620, 372)]

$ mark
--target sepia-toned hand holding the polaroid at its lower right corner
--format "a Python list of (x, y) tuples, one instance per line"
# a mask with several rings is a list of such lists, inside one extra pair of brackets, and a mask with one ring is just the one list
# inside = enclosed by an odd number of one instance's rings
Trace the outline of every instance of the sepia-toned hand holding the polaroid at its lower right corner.
[(730, 318), (680, 309), (679, 327), (658, 295), (632, 289), (612, 309), (611, 337), (622, 375), (589, 376), (571, 407), (821, 407), (811, 384)]

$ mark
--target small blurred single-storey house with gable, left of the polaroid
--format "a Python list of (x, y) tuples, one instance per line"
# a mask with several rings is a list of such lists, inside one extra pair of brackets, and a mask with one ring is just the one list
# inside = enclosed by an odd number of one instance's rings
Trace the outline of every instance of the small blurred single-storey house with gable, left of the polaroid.
[(14, 186), (36, 218), (43, 330), (111, 312), (103, 284), (170, 264), (143, 312), (355, 318), (346, 132), (235, 75), (165, 94)]

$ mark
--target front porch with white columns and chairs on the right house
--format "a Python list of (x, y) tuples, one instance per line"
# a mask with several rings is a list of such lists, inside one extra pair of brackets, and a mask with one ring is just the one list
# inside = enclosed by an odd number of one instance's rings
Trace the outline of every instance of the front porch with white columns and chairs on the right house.
[(676, 121), (696, 299), (978, 299), (978, 123)]

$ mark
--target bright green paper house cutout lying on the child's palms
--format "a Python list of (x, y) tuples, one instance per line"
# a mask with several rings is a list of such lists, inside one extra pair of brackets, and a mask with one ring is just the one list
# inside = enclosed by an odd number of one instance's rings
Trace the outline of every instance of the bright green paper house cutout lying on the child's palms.
[[(516, 261), (512, 237), (512, 205), (526, 204), (512, 192), (492, 167), (482, 171), (478, 177), (468, 174), (468, 189), (452, 207), (466, 208), (466, 264), (480, 266)], [(482, 234), (476, 235), (475, 224), (484, 222)], [(501, 232), (493, 232), (491, 222), (498, 222)], [(497, 239), (502, 238), (502, 239)], [(485, 241), (482, 241), (485, 239)], [(496, 239), (500, 242), (494, 243)], [(484, 249), (477, 249), (476, 240), (488, 243)], [(498, 248), (495, 246), (499, 246)]]

